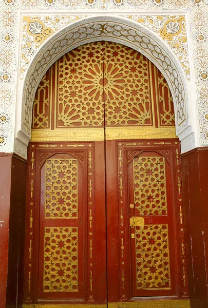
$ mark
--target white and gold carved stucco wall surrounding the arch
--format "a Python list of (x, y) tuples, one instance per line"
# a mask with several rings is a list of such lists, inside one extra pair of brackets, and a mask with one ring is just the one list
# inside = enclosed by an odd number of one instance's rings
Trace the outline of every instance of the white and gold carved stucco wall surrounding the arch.
[[(54, 20), (48, 20), (53, 28), (53, 34), (46, 37), (41, 48), (55, 35), (55, 31), (63, 30), (66, 23), (74, 24), (75, 18), (84, 18), (86, 15), (101, 15), (117, 9), (114, 15), (123, 16), (135, 23), (144, 25), (150, 31), (154, 31), (158, 37), (162, 37), (160, 32), (164, 29), (165, 22), (168, 18), (178, 18), (178, 16), (186, 15), (185, 23), (181, 29), (180, 35), (175, 35), (172, 41), (163, 40), (166, 46), (172, 48), (178, 57), (178, 64), (182, 67), (186, 74), (188, 94), (188, 104), (191, 104), (188, 121), (191, 126), (187, 126), (188, 122), (181, 124), (180, 139), (183, 140), (195, 131), (195, 141), (193, 146), (208, 144), (208, 105), (207, 105), (207, 88), (208, 88), (208, 51), (207, 51), (207, 3), (205, 0), (0, 0), (0, 23), (1, 32), (1, 48), (0, 48), (0, 150), (10, 152), (13, 150), (14, 140), (14, 119), (15, 119), (15, 103), (20, 103), (23, 90), (23, 84), (20, 83), (20, 58), (21, 44), (23, 41), (18, 39), (24, 34), (22, 31), (23, 23), (20, 24), (22, 16), (41, 16), (41, 21), (49, 15), (64, 16), (60, 18), (58, 26), (54, 24)], [(27, 9), (21, 13), (22, 9)], [(48, 10), (49, 9), (49, 10)], [(74, 12), (68, 16), (68, 12)], [(136, 14), (136, 10), (138, 13)], [(139, 9), (139, 10), (138, 10)], [(165, 10), (164, 10), (165, 9)], [(181, 10), (183, 9), (183, 11)], [(43, 10), (45, 12), (43, 13)], [(48, 10), (48, 11), (46, 11)], [(81, 11), (79, 11), (81, 10)], [(143, 10), (143, 12), (141, 11)], [(169, 11), (168, 11), (169, 10)], [(48, 13), (47, 13), (48, 12)], [(83, 13), (82, 13), (83, 12)], [(191, 13), (191, 18), (189, 17)], [(53, 14), (52, 14), (53, 13)], [(148, 15), (149, 14), (149, 15)], [(66, 18), (68, 16), (68, 20)], [(162, 18), (160, 17), (162, 16)], [(79, 17), (80, 16), (80, 17)], [(136, 20), (137, 18), (137, 20)], [(160, 19), (161, 18), (161, 19)], [(65, 19), (65, 21), (64, 21)], [(191, 22), (191, 24), (189, 24)], [(75, 21), (77, 23), (77, 21)], [(123, 22), (126, 24), (126, 22)], [(61, 26), (59, 26), (61, 25)], [(188, 34), (191, 25), (192, 36)], [(172, 27), (174, 25), (172, 23)], [(185, 28), (184, 28), (185, 27)], [(57, 29), (56, 29), (57, 28)], [(177, 30), (177, 29), (176, 29)], [(47, 36), (47, 35), (46, 35)], [(186, 42), (187, 41), (187, 42)], [(27, 41), (26, 48), (32, 50), (34, 47), (34, 36), (32, 41)], [(32, 43), (32, 44), (31, 44)], [(19, 44), (19, 45), (18, 45)], [(124, 43), (123, 43), (124, 44)], [(125, 44), (126, 45), (126, 44)], [(133, 47), (134, 48), (134, 47)], [(193, 50), (192, 50), (193, 48)], [(39, 49), (39, 48), (37, 48)], [(36, 51), (38, 50), (35, 49)], [(183, 53), (182, 50), (185, 52)], [(18, 52), (17, 52), (18, 51)], [(193, 52), (194, 51), (194, 52)], [(183, 53), (181, 57), (180, 53)], [(19, 60), (18, 60), (19, 54)], [(31, 61), (34, 60), (35, 54), (32, 54)], [(191, 62), (190, 62), (191, 59)], [(29, 61), (30, 62), (30, 61)], [(34, 64), (34, 62), (32, 61)], [(29, 64), (29, 63), (28, 63)], [(28, 65), (26, 65), (25, 74)], [(18, 70), (18, 87), (16, 88)], [(183, 74), (184, 76), (184, 74)], [(41, 78), (41, 77), (40, 77)], [(39, 78), (39, 79), (40, 79)], [(195, 93), (195, 91), (197, 93)], [(173, 92), (173, 91), (172, 91)], [(196, 104), (197, 101), (197, 104)], [(18, 140), (26, 144), (29, 134), (21, 131), (21, 110), (20, 106), (16, 106), (16, 133), (18, 132)], [(188, 111), (188, 109), (187, 109)], [(196, 129), (195, 119), (199, 121), (199, 128)], [(184, 127), (189, 127), (184, 129)], [(183, 131), (182, 131), (183, 130)], [(200, 140), (200, 143), (199, 143)], [(17, 144), (17, 142), (15, 143)], [(16, 146), (15, 146), (16, 147)]]

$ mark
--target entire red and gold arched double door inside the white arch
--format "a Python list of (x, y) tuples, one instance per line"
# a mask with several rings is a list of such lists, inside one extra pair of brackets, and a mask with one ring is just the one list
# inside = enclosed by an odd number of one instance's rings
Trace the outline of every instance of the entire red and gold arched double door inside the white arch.
[(179, 140), (160, 71), (117, 43), (70, 51), (36, 91), (31, 141), (25, 304), (187, 298)]

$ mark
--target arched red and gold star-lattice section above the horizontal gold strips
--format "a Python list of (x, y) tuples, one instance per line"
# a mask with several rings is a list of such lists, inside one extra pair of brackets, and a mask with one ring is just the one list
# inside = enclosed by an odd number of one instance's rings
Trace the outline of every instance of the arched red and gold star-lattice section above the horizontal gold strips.
[[(42, 90), (44, 80), (37, 89), (33, 129), (175, 126), (173, 99), (164, 77), (134, 49), (94, 42), (66, 53), (50, 70), (53, 91), (49, 93), (47, 84)], [(41, 105), (51, 110), (51, 128), (43, 126), (50, 121)]]

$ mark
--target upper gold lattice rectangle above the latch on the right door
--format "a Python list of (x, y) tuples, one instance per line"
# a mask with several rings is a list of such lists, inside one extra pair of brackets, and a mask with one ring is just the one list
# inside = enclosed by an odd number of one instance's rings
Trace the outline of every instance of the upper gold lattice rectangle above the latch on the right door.
[(163, 157), (134, 158), (134, 200), (138, 215), (167, 215)]

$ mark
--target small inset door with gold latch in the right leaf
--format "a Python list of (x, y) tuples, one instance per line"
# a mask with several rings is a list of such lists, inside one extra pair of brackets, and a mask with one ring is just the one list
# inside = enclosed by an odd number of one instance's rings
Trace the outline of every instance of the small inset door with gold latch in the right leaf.
[(165, 157), (155, 151), (136, 155), (128, 167), (128, 191), (132, 295), (174, 295), (175, 249), (168, 232), (173, 202)]

